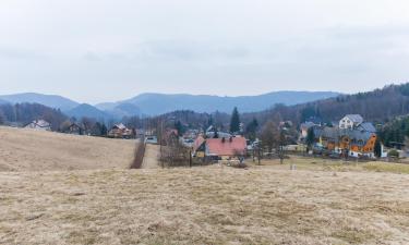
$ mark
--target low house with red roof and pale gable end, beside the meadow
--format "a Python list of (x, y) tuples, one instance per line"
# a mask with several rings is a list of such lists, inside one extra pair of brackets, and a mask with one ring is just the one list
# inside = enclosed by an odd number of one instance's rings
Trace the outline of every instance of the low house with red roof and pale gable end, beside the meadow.
[(193, 145), (193, 155), (199, 158), (228, 160), (242, 157), (246, 152), (244, 137), (205, 139), (199, 136)]

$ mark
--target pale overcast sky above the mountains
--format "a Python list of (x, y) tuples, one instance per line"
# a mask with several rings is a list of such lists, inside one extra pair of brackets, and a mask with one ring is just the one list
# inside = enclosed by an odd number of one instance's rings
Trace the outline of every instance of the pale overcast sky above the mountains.
[(0, 94), (81, 102), (409, 82), (408, 0), (1, 0)]

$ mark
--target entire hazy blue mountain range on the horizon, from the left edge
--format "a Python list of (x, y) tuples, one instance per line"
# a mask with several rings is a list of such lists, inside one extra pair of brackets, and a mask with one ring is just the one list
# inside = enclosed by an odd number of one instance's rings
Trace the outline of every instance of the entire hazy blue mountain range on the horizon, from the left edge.
[(0, 96), (0, 103), (2, 101), (9, 103), (40, 103), (50, 108), (58, 108), (70, 117), (89, 117), (109, 120), (131, 115), (158, 115), (176, 110), (230, 113), (234, 107), (238, 107), (240, 112), (255, 112), (266, 110), (277, 103), (293, 106), (332, 98), (340, 94), (333, 91), (274, 91), (260, 96), (238, 97), (142, 94), (118, 102), (92, 106), (79, 103), (61, 96), (26, 93)]

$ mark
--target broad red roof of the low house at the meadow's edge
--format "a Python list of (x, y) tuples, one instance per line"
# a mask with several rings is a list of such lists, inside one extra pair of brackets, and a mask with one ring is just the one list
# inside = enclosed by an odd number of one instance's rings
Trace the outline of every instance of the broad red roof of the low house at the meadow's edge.
[(206, 151), (210, 156), (234, 156), (243, 155), (246, 149), (244, 137), (208, 138), (206, 139)]

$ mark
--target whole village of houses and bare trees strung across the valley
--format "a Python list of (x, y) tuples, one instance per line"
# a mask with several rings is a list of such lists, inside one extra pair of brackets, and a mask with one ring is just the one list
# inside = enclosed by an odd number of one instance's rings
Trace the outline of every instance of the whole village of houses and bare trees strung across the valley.
[[(314, 155), (329, 158), (375, 159), (388, 157), (388, 149), (380, 143), (376, 128), (360, 114), (347, 114), (339, 122), (323, 123), (317, 118), (310, 118), (299, 126), (290, 121), (267, 125), (253, 136), (243, 133), (244, 124), (238, 130), (222, 131), (214, 125), (207, 128), (185, 128), (177, 126), (159, 128), (129, 128), (123, 123), (106, 128), (95, 123), (86, 127), (81, 123), (64, 125), (62, 133), (73, 135), (104, 136), (110, 138), (140, 138), (145, 144), (169, 146), (177, 142), (179, 147), (189, 149), (194, 159), (229, 160), (253, 156), (253, 159), (279, 156), (280, 152)], [(45, 120), (35, 120), (26, 128), (51, 131)], [(187, 126), (188, 127), (188, 126)], [(297, 128), (291, 132), (290, 128)], [(172, 139), (172, 140), (171, 140)], [(175, 144), (173, 144), (175, 145)]]

